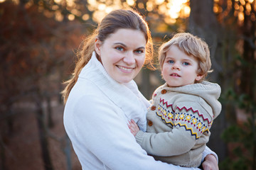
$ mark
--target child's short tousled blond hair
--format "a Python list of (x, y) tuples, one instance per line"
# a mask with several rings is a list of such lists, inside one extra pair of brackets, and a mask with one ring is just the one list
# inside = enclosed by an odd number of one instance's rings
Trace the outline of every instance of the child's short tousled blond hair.
[(186, 55), (196, 57), (198, 60), (197, 74), (203, 76), (203, 78), (195, 83), (200, 83), (206, 78), (208, 72), (212, 72), (210, 70), (210, 50), (207, 43), (191, 33), (177, 33), (171, 40), (161, 45), (159, 48), (159, 65), (161, 69), (166, 58), (166, 52), (171, 45), (176, 45)]

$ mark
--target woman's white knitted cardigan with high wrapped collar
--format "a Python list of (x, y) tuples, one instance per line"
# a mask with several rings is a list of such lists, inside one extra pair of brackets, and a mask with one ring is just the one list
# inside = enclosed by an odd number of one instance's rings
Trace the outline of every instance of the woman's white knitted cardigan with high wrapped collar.
[[(70, 91), (64, 111), (65, 130), (82, 169), (185, 169), (156, 162), (130, 132), (131, 119), (146, 130), (149, 106), (134, 81), (114, 81), (94, 53)], [(215, 153), (206, 147), (207, 154)]]

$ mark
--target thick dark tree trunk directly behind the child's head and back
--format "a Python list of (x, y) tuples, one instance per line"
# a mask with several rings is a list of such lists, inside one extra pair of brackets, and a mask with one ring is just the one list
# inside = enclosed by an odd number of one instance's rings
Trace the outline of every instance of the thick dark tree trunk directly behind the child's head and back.
[[(220, 50), (218, 49), (218, 38), (220, 28), (217, 18), (213, 13), (213, 0), (201, 1), (191, 0), (190, 7), (191, 13), (189, 16), (189, 32), (193, 35), (198, 35), (208, 43), (210, 47), (210, 56), (212, 62), (213, 73), (210, 74), (210, 81), (217, 82), (222, 86), (219, 73), (222, 72), (222, 67), (218, 62), (221, 62), (222, 58)], [(217, 62), (218, 61), (218, 62)], [(227, 147), (225, 143), (220, 139), (220, 134), (226, 128), (225, 114), (222, 113), (218, 118), (213, 121), (213, 127), (210, 129), (210, 141), (208, 147), (218, 154), (219, 160), (222, 161), (227, 155)]]

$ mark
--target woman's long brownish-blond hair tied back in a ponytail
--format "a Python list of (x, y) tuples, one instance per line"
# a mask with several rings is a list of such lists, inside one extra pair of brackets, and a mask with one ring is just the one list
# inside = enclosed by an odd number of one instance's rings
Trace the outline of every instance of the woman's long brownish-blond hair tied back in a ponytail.
[[(151, 65), (153, 58), (153, 43), (151, 40), (151, 33), (149, 27), (137, 11), (133, 10), (114, 10), (107, 14), (105, 18), (102, 19), (101, 23), (97, 29), (88, 36), (80, 45), (81, 50), (78, 51), (78, 62), (75, 64), (75, 70), (72, 74), (72, 77), (65, 81), (65, 89), (61, 92), (63, 95), (64, 103), (68, 100), (71, 89), (78, 81), (78, 75), (87, 62), (89, 62), (92, 57), (92, 52), (95, 50), (95, 40), (99, 39), (101, 42), (104, 42), (108, 36), (112, 33), (115, 33), (120, 28), (129, 28), (134, 30), (141, 30), (144, 33), (146, 39), (146, 59), (144, 64)], [(98, 57), (98, 56), (97, 56)]]

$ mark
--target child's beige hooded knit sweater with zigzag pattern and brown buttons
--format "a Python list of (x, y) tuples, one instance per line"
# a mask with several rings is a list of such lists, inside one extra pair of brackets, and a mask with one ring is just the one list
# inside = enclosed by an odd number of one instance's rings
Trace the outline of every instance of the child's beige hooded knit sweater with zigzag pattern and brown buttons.
[(156, 160), (197, 167), (210, 137), (213, 120), (220, 114), (220, 86), (208, 81), (154, 91), (146, 115), (146, 132), (136, 140)]

